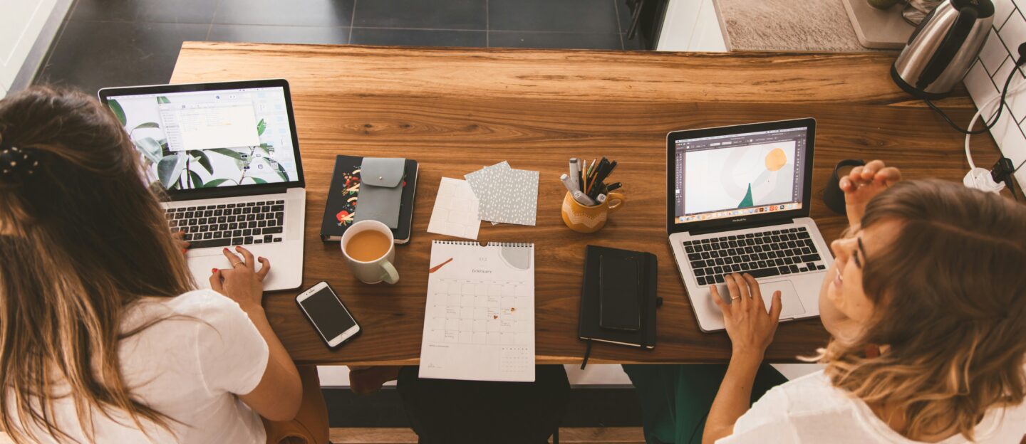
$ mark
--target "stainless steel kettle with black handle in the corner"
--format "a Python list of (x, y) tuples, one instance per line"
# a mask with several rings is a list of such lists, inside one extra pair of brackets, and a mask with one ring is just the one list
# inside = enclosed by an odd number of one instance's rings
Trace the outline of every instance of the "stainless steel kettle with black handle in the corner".
[(993, 22), (990, 0), (945, 0), (909, 37), (891, 77), (916, 97), (946, 96), (969, 74)]

